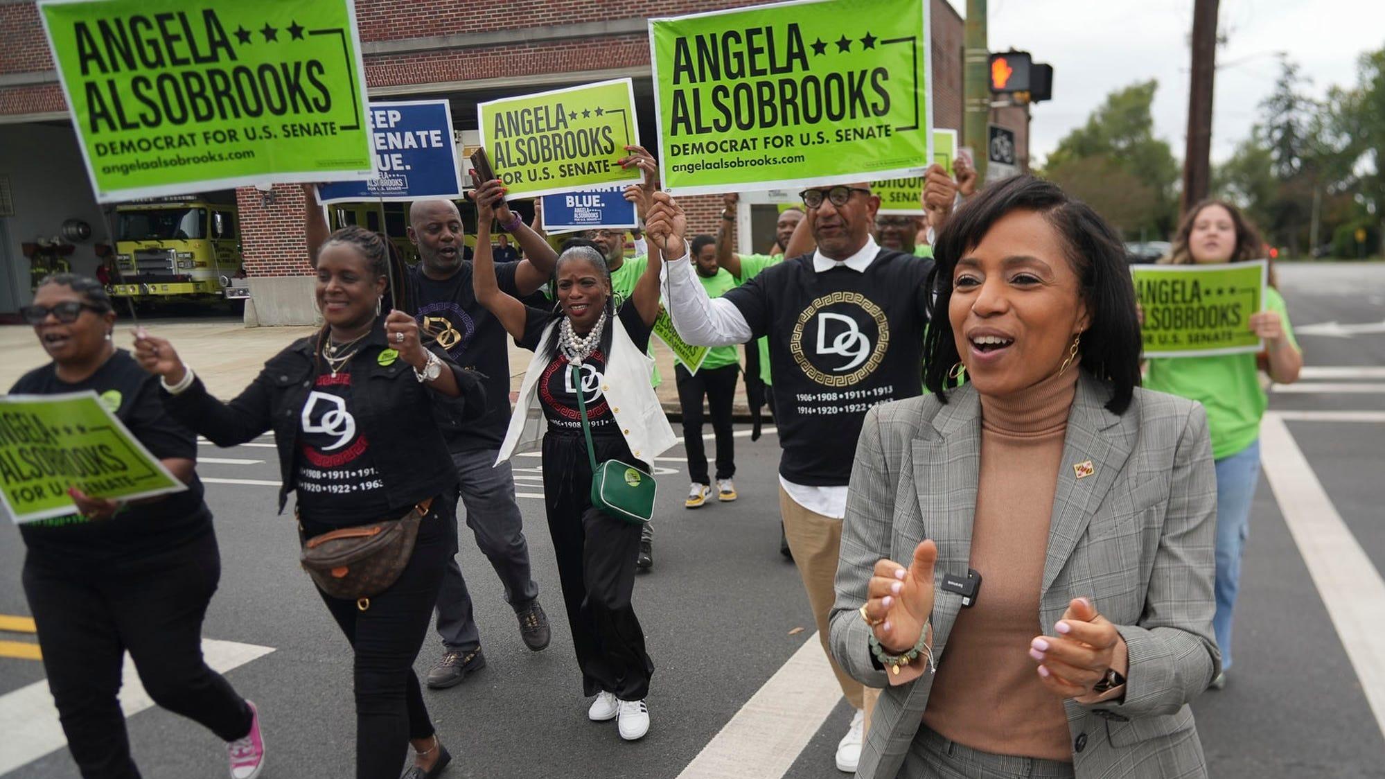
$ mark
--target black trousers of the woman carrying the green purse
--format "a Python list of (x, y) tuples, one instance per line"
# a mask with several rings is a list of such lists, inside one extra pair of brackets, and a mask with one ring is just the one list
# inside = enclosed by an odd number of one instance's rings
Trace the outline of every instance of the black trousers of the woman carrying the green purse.
[[(593, 442), (598, 463), (615, 457), (648, 473), (620, 435), (594, 435)], [(643, 700), (654, 661), (630, 603), (640, 527), (591, 506), (591, 463), (580, 432), (543, 437), (543, 495), (582, 692)]]

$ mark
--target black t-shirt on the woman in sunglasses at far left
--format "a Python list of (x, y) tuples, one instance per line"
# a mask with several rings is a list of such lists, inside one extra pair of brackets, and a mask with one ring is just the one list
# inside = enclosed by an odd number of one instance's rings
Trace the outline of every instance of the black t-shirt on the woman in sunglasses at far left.
[[(115, 353), (86, 381), (68, 384), (53, 363), (24, 374), (10, 388), (12, 395), (61, 395), (93, 390), (115, 410), (151, 455), (161, 460), (197, 459), (197, 437), (163, 412), (158, 378), (145, 373), (125, 349)], [(150, 503), (129, 503), (109, 518), (91, 521), (72, 513), (19, 527), (29, 550), (68, 560), (141, 557), (176, 549), (212, 529), (212, 513), (202, 502), (202, 482), (194, 475), (184, 492)]]

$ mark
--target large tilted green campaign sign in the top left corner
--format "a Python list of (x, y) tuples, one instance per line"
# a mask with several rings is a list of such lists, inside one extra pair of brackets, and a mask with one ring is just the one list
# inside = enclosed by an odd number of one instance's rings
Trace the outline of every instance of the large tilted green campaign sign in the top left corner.
[(101, 202), (374, 176), (353, 0), (42, 0)]

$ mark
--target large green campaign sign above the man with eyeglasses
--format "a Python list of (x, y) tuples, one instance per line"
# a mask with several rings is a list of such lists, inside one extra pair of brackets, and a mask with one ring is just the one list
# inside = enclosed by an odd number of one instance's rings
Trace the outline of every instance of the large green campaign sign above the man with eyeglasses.
[(663, 189), (712, 194), (918, 176), (928, 3), (795, 0), (650, 19)]

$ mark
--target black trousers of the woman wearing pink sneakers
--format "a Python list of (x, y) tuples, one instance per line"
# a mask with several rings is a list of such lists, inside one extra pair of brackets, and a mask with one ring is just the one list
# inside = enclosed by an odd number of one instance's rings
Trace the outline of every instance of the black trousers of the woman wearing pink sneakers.
[(126, 650), (154, 703), (226, 742), (249, 732), (245, 699), (202, 660), (202, 618), (220, 577), (211, 529), (136, 560), (25, 557), (24, 592), (48, 689), (82, 776), (140, 776), (116, 700)]

